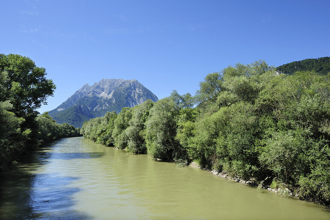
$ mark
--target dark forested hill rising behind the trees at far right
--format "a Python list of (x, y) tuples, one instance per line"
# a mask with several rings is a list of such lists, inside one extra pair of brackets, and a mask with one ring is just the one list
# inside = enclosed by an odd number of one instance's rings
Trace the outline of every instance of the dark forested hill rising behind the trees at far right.
[(294, 61), (277, 67), (277, 71), (285, 74), (293, 74), (296, 71), (315, 71), (321, 74), (330, 72), (330, 57), (321, 57), (317, 59), (306, 59)]

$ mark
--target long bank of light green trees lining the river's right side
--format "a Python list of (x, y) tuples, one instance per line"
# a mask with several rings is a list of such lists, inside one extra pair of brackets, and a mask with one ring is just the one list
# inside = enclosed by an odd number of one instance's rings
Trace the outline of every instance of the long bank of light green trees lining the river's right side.
[(81, 134), (329, 204), (329, 107), (330, 74), (277, 75), (258, 61), (208, 74), (194, 97), (174, 90), (156, 103), (147, 100), (85, 121)]

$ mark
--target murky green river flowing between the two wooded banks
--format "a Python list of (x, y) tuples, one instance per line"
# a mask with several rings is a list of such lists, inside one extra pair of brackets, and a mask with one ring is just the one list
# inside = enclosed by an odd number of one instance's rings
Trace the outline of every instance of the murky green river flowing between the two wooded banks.
[(1, 176), (0, 219), (330, 219), (323, 206), (64, 138)]

